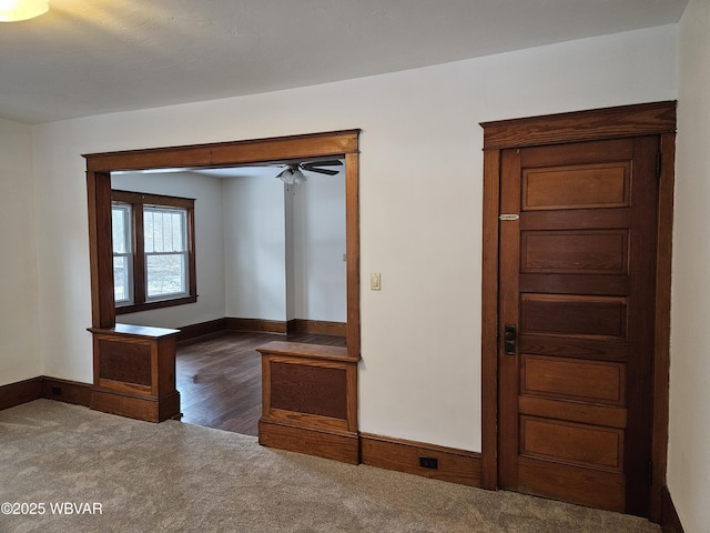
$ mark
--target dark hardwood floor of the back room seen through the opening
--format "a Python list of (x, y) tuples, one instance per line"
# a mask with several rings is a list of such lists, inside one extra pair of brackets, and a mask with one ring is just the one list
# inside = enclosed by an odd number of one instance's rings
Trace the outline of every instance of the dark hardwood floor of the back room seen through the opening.
[(176, 384), (182, 421), (257, 435), (262, 366), (256, 349), (271, 341), (344, 346), (345, 338), (225, 331), (178, 344)]

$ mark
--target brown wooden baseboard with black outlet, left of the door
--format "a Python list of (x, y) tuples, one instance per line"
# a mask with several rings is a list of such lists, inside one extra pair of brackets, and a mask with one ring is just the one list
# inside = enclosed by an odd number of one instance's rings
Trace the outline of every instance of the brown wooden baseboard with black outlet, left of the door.
[[(462, 485), (480, 486), (479, 453), (372, 433), (361, 433), (359, 440), (363, 464)], [(436, 467), (422, 466), (422, 457), (425, 464), (432, 464), (432, 459), (436, 460)]]

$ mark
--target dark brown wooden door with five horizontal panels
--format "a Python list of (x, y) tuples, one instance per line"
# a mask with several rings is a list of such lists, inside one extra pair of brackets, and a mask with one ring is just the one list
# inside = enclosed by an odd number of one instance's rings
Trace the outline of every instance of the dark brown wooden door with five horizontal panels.
[(500, 153), (503, 489), (648, 515), (659, 143)]

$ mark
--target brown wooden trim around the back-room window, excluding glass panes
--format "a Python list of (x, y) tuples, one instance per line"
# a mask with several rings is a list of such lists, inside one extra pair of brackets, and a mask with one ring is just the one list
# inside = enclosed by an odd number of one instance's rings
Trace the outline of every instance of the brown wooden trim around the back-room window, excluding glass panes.
[[(131, 247), (133, 251), (133, 284), (131, 288), (133, 301), (130, 304), (123, 305), (116, 305), (114, 301), (113, 305), (115, 308), (115, 314), (128, 314), (139, 311), (148, 311), (151, 309), (195, 303), (197, 301), (197, 281), (195, 269), (194, 199), (112, 189), (111, 202), (131, 205)], [(143, 208), (146, 205), (168, 209), (184, 209), (186, 211), (186, 294), (182, 293), (174, 298), (149, 298), (146, 294), (145, 248), (143, 245), (143, 239), (138, 238), (138, 235), (143, 235)]]

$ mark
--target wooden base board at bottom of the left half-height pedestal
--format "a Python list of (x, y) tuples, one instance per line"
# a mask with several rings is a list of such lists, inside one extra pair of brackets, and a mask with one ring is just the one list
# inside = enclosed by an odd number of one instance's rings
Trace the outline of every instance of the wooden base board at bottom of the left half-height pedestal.
[(162, 422), (180, 416), (180, 393), (161, 399), (132, 396), (112, 391), (93, 390), (90, 408), (103, 413), (120, 414), (145, 422)]

